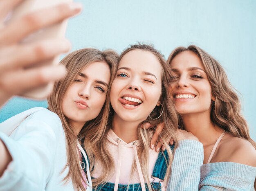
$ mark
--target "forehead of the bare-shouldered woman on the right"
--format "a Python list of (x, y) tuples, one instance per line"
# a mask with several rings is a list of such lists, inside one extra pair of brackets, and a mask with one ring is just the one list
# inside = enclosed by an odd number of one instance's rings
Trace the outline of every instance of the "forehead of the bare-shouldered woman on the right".
[(171, 68), (191, 68), (199, 67), (204, 69), (202, 60), (198, 55), (190, 50), (186, 50), (176, 55), (171, 61)]

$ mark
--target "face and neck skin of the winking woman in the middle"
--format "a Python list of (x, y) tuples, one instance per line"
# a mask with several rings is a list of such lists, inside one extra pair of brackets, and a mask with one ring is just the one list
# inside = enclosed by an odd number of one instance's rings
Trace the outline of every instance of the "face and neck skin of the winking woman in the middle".
[[(113, 131), (126, 143), (138, 139), (139, 123), (160, 105), (162, 66), (157, 57), (144, 50), (131, 50), (121, 59), (117, 77), (110, 90), (110, 102), (115, 110)], [(122, 97), (136, 96), (142, 103), (134, 108), (124, 105)]]

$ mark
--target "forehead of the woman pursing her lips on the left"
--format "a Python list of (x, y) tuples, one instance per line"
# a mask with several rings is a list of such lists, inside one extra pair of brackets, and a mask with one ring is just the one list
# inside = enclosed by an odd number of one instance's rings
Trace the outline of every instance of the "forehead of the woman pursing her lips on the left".
[(80, 72), (90, 79), (97, 79), (107, 83), (110, 81), (110, 68), (104, 61), (92, 62), (85, 66)]

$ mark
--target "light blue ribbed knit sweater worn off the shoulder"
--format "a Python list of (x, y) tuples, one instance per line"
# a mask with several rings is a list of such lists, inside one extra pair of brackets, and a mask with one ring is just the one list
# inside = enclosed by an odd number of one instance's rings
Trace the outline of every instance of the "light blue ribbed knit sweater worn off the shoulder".
[[(182, 140), (176, 149), (168, 191), (254, 191), (256, 168), (234, 162), (203, 165), (202, 143)], [(198, 187), (199, 185), (199, 187)]]

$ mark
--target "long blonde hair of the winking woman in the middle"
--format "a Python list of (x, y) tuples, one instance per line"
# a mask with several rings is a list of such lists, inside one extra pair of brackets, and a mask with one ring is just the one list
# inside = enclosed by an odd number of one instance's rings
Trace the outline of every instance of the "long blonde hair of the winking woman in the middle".
[[(162, 94), (161, 94), (161, 103), (164, 106), (164, 112), (162, 116), (157, 120), (152, 120), (148, 117), (146, 121), (143, 121), (138, 126), (138, 137), (141, 141), (141, 146), (138, 150), (138, 157), (139, 162), (141, 164), (141, 170), (143, 173), (143, 176), (146, 180), (146, 183), (148, 185), (148, 189), (151, 191), (151, 183), (150, 183), (150, 176), (148, 174), (148, 160), (149, 160), (149, 143), (150, 143), (150, 131), (155, 131), (155, 127), (159, 123), (164, 123), (165, 127), (163, 132), (161, 133), (161, 137), (163, 139), (163, 144), (166, 147), (168, 158), (166, 158), (167, 163), (167, 171), (166, 171), (166, 178), (171, 173), (171, 162), (173, 159), (173, 154), (171, 151), (171, 148), (169, 147), (166, 140), (168, 138), (173, 137), (175, 143), (177, 143), (175, 132), (177, 130), (178, 125), (178, 116), (175, 111), (174, 105), (171, 101), (171, 94), (169, 92), (169, 83), (171, 82), (171, 70), (168, 64), (166, 63), (166, 60), (164, 59), (163, 55), (160, 54), (153, 46), (149, 46), (146, 44), (136, 44), (133, 46), (130, 46), (126, 50), (124, 50), (119, 58), (119, 61), (122, 59), (122, 57), (132, 51), (132, 50), (143, 50), (148, 51), (152, 54), (154, 54), (157, 59), (159, 60), (159, 63), (162, 66)], [(111, 106), (110, 106), (111, 107)], [(161, 106), (157, 106), (150, 114), (150, 116), (155, 119), (157, 116), (160, 115)], [(112, 121), (114, 116), (114, 111), (112, 107), (110, 108), (111, 114), (108, 116), (108, 123), (105, 127), (94, 127), (87, 132), (85, 132), (85, 149), (88, 153), (89, 160), (91, 162), (90, 170), (93, 173), (93, 165), (94, 160), (99, 161), (99, 163), (102, 165), (102, 173), (101, 176), (93, 179), (93, 186), (97, 188), (97, 186), (104, 184), (110, 178), (113, 176), (113, 169), (114, 169), (114, 162), (113, 158), (110, 155), (108, 148), (106, 146), (107, 141), (107, 134), (109, 130), (112, 128)], [(146, 130), (143, 128), (145, 122), (150, 122), (153, 124), (154, 127)], [(96, 136), (98, 132), (99, 135)], [(175, 144), (177, 146), (177, 144)], [(131, 169), (131, 172), (133, 173), (136, 167), (136, 163), (133, 163), (133, 167)]]

